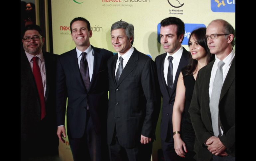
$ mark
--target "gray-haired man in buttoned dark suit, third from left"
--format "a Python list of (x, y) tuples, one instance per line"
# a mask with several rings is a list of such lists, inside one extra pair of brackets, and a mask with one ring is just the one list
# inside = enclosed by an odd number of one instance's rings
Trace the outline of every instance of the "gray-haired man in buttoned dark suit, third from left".
[(160, 111), (154, 61), (132, 46), (134, 27), (118, 21), (111, 42), (118, 54), (108, 60), (107, 140), (112, 161), (150, 161)]

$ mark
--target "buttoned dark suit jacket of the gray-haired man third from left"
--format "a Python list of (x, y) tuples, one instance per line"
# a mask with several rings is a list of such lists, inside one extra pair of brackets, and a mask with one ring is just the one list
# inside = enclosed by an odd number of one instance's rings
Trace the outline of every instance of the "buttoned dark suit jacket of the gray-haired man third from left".
[(107, 139), (110, 144), (116, 127), (119, 144), (132, 148), (140, 144), (141, 134), (155, 138), (160, 111), (159, 86), (154, 61), (135, 48), (116, 83), (117, 58), (118, 54), (108, 61)]

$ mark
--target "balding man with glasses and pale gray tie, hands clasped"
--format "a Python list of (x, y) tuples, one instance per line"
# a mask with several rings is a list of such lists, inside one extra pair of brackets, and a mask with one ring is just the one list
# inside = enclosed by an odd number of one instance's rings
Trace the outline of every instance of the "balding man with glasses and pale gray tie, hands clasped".
[(225, 20), (206, 29), (215, 60), (198, 71), (189, 108), (197, 161), (235, 161), (235, 30)]

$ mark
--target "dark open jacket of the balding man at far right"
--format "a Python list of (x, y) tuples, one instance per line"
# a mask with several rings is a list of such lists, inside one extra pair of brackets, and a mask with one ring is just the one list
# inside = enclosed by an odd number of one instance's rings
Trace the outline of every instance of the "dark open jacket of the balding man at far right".
[[(196, 136), (194, 145), (195, 158), (198, 161), (207, 161), (212, 157), (204, 143), (208, 138), (214, 136), (209, 107), (209, 83), (214, 61), (198, 71), (189, 108)], [(235, 156), (235, 57), (221, 89), (219, 116), (223, 129), (223, 135), (219, 139), (226, 146), (226, 152)]]

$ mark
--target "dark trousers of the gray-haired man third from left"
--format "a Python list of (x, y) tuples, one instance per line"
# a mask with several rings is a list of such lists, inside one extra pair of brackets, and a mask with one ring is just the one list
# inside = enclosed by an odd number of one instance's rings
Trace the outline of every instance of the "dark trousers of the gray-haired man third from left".
[(152, 154), (152, 145), (141, 144), (139, 142), (138, 147), (125, 148), (118, 142), (116, 130), (111, 145), (109, 145), (109, 156), (111, 161), (150, 161)]

